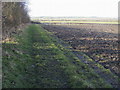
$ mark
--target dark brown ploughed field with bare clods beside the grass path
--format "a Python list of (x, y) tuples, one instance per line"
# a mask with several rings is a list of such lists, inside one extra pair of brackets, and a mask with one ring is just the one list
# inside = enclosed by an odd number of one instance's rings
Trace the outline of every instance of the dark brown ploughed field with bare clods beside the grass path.
[(46, 30), (120, 75), (117, 24), (43, 24)]

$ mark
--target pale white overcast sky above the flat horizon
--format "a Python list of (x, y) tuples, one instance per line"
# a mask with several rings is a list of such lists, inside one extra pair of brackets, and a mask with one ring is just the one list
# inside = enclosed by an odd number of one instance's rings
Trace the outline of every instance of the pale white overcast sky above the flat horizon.
[(120, 0), (29, 0), (29, 15), (118, 17)]

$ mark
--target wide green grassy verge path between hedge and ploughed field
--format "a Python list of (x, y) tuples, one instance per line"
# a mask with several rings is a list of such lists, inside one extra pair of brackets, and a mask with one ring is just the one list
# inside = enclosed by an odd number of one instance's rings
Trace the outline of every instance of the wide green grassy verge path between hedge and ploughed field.
[(41, 26), (3, 43), (3, 88), (110, 88)]

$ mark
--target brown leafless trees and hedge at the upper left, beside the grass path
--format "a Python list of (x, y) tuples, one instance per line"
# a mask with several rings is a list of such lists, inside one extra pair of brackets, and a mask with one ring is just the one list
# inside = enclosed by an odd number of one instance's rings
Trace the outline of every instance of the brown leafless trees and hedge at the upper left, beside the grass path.
[(15, 32), (13, 29), (11, 31), (11, 28), (17, 29), (18, 26), (29, 21), (26, 2), (2, 2), (3, 37), (9, 37), (12, 32)]

